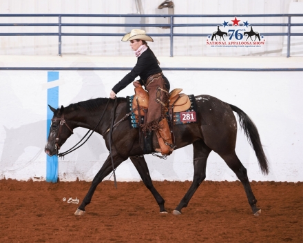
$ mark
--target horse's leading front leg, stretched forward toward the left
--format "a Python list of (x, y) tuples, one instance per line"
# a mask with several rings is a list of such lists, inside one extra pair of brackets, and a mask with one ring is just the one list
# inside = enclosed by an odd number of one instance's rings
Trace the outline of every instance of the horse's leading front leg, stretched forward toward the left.
[[(125, 159), (123, 159), (117, 155), (114, 156), (113, 159), (114, 159), (114, 168), (117, 168), (123, 161), (125, 161)], [(98, 173), (95, 175), (94, 179), (92, 180), (90, 190), (88, 190), (81, 205), (79, 206), (79, 208), (77, 208), (74, 215), (84, 215), (85, 206), (87, 206), (87, 204), (90, 204), (90, 201), (92, 200), (92, 195), (94, 195), (94, 191), (96, 190), (96, 187), (111, 172), (112, 172), (112, 159), (109, 155), (107, 157), (107, 159), (105, 160), (103, 166), (101, 167), (100, 171), (98, 171)]]

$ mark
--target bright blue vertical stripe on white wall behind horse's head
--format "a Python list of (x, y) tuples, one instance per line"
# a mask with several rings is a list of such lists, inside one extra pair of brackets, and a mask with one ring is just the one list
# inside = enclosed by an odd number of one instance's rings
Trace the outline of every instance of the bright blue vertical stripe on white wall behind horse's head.
[[(48, 82), (55, 81), (59, 79), (59, 72), (48, 72)], [(50, 133), (50, 125), (52, 124), (52, 110), (48, 107), (48, 105), (58, 108), (59, 106), (59, 86), (48, 89), (48, 104), (46, 104), (47, 108), (47, 134)], [(58, 157), (56, 156), (48, 156), (46, 155), (46, 181), (54, 182), (58, 181)]]

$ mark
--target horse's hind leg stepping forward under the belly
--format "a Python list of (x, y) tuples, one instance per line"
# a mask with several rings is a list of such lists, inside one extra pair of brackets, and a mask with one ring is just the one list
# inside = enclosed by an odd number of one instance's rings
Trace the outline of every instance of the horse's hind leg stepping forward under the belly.
[(194, 142), (194, 179), (193, 182), (182, 198), (178, 206), (173, 211), (174, 215), (180, 215), (181, 209), (187, 207), (189, 200), (196, 192), (197, 188), (200, 186), (202, 181), (206, 177), (206, 164), (209, 153), (211, 153), (211, 149), (203, 142), (202, 140), (198, 140)]

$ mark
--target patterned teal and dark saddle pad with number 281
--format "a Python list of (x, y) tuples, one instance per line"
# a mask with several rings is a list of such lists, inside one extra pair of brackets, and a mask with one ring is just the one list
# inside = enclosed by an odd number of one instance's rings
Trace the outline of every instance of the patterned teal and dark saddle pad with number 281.
[[(189, 101), (190, 101), (190, 107), (189, 109), (183, 111), (183, 112), (174, 112), (174, 125), (179, 125), (179, 124), (189, 124), (189, 123), (196, 123), (196, 122), (191, 122), (188, 120), (182, 121), (182, 115), (184, 113), (190, 113), (192, 114), (193, 112), (196, 112), (196, 99), (194, 95), (188, 95)], [(131, 110), (133, 110), (133, 101), (134, 101), (134, 95), (132, 96), (127, 96), (127, 113), (129, 113)], [(139, 117), (138, 115), (135, 115), (134, 113), (131, 113), (128, 117), (129, 120), (129, 126), (131, 128), (138, 128), (138, 122), (139, 122)], [(169, 115), (167, 114), (167, 120), (169, 121)], [(141, 122), (140, 124), (143, 124), (144, 122), (144, 117), (141, 117)]]

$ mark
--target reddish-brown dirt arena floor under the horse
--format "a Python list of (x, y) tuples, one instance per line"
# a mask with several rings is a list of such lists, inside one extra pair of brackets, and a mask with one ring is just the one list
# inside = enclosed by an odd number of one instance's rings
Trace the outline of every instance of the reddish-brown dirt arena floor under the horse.
[(87, 213), (75, 216), (90, 182), (2, 179), (0, 242), (303, 242), (302, 182), (252, 182), (262, 208), (254, 217), (240, 182), (206, 181), (172, 215), (190, 184), (154, 182), (163, 215), (143, 182), (102, 182)]

